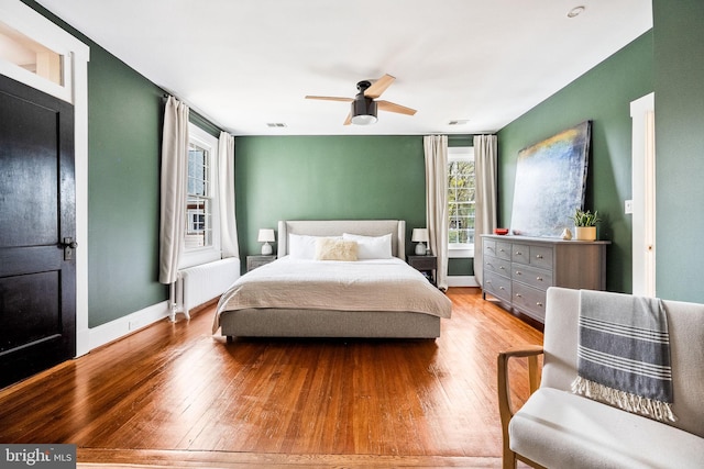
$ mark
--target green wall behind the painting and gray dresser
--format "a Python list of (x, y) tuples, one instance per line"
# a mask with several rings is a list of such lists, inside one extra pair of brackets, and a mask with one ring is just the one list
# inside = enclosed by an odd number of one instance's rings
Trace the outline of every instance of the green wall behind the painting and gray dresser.
[(592, 120), (585, 206), (598, 210), (600, 239), (607, 249), (606, 287), (630, 292), (631, 220), (624, 201), (631, 193), (630, 102), (652, 92), (652, 31), (498, 132), (498, 224), (509, 226), (518, 152)]

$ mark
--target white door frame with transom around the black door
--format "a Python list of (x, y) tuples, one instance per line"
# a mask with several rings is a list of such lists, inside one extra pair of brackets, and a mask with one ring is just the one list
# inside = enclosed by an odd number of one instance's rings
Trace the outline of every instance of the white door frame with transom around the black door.
[(90, 351), (88, 327), (88, 62), (90, 48), (19, 0), (0, 3), (2, 22), (68, 58), (65, 86), (0, 59), (0, 74), (74, 105), (76, 178), (76, 356)]

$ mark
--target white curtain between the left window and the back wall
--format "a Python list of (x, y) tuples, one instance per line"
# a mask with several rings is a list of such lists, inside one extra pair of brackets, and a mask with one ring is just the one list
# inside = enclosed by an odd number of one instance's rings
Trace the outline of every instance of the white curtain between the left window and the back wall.
[(218, 190), (222, 258), (239, 258), (238, 223), (234, 214), (234, 137), (227, 132), (220, 132), (218, 157), (220, 158)]

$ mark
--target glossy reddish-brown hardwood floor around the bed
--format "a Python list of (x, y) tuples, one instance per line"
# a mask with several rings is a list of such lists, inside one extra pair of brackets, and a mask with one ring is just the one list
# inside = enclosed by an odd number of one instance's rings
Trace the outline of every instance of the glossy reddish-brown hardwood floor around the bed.
[(448, 297), (436, 340), (227, 344), (212, 305), (164, 320), (1, 390), (0, 442), (76, 444), (81, 467), (501, 467), (496, 354), (542, 334)]

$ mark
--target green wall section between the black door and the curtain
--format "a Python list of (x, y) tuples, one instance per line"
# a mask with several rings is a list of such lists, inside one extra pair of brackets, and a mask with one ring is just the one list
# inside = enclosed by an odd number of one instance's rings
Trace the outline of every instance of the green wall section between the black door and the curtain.
[(163, 91), (96, 44), (88, 64), (90, 327), (160, 303)]

